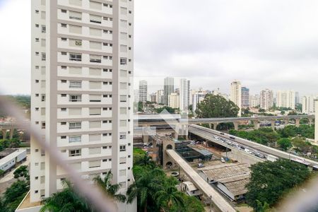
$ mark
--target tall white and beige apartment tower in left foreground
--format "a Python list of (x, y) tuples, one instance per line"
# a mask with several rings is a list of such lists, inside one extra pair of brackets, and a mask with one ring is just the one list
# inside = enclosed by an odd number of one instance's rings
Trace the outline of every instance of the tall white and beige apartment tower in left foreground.
[[(31, 122), (83, 178), (111, 170), (126, 193), (133, 181), (134, 0), (31, 2)], [(30, 201), (59, 191), (65, 178), (31, 135)]]

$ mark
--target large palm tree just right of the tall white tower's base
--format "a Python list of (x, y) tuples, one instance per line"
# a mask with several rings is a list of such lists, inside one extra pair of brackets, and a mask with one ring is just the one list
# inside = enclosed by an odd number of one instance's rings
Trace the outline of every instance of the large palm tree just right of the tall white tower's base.
[(156, 192), (162, 189), (165, 173), (159, 168), (148, 169), (145, 167), (134, 167), (135, 182), (127, 189), (127, 202), (131, 204), (137, 198), (138, 204), (147, 211), (148, 201), (153, 201)]

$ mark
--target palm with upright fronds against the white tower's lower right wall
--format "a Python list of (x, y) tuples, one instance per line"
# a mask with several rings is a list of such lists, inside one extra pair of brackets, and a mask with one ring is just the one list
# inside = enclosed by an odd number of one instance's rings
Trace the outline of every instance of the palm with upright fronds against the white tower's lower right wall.
[(124, 194), (117, 194), (121, 185), (120, 184), (112, 184), (112, 172), (109, 171), (105, 175), (104, 179), (98, 175), (94, 178), (94, 182), (98, 184), (98, 186), (102, 189), (105, 194), (110, 196), (115, 201), (120, 201), (124, 203), (126, 201), (126, 196)]

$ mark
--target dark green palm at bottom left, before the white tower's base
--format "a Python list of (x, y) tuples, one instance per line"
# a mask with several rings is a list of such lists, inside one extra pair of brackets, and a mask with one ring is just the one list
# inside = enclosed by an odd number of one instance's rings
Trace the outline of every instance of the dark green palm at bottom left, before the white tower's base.
[(88, 204), (88, 201), (83, 198), (83, 196), (79, 196), (75, 192), (71, 182), (64, 181), (63, 184), (64, 189), (61, 192), (54, 193), (52, 196), (42, 201), (43, 206), (40, 209), (40, 212), (94, 211), (93, 208)]

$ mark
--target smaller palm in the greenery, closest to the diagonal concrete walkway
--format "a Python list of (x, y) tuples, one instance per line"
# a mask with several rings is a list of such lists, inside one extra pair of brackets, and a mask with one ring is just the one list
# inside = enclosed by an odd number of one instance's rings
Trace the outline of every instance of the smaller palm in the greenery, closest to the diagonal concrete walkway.
[(182, 192), (179, 192), (175, 187), (177, 184), (174, 177), (169, 177), (165, 180), (163, 184), (163, 190), (160, 190), (155, 193), (155, 199), (157, 204), (167, 211), (170, 211), (172, 206), (177, 206), (177, 208), (184, 207), (184, 197)]

